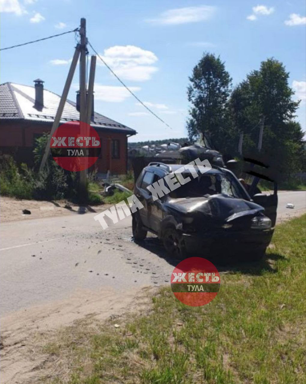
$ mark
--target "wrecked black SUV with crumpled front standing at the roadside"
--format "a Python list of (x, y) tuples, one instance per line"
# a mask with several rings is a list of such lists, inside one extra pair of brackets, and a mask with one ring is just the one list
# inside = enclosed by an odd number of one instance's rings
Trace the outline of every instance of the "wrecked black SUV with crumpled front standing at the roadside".
[(147, 187), (166, 175), (174, 176), (181, 167), (154, 162), (142, 170), (134, 189), (143, 204), (132, 217), (135, 240), (144, 239), (150, 231), (176, 257), (263, 257), (274, 232), (277, 190), (251, 199), (229, 169), (213, 166), (202, 174), (195, 166), (198, 177), (184, 170), (181, 175), (190, 177), (189, 182), (153, 200)]

